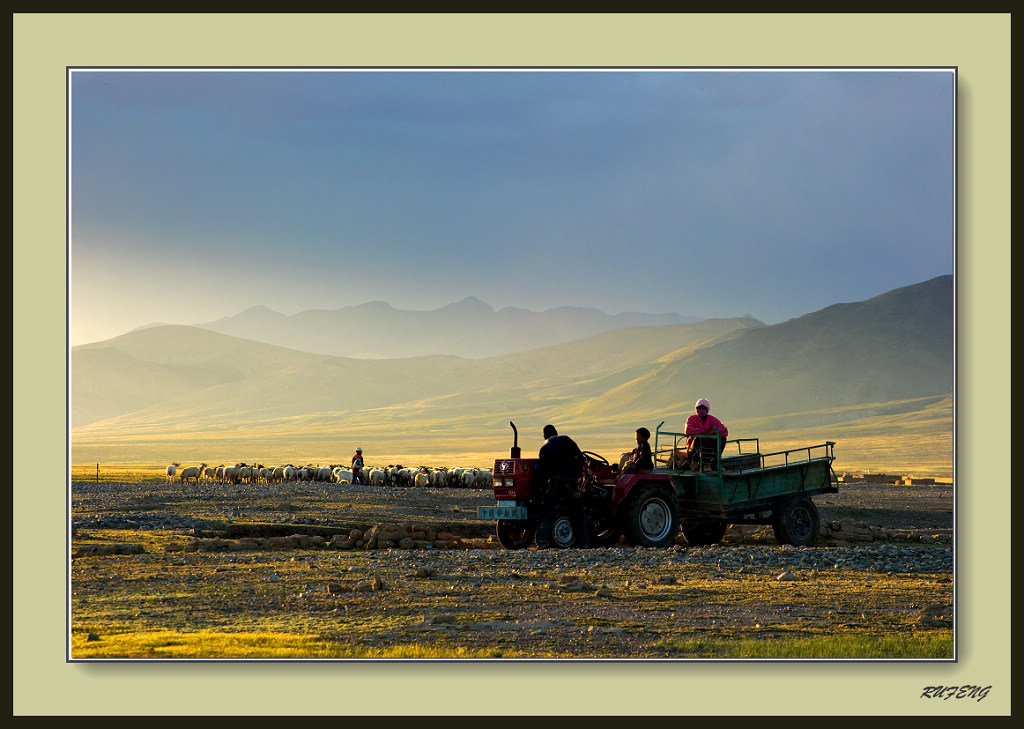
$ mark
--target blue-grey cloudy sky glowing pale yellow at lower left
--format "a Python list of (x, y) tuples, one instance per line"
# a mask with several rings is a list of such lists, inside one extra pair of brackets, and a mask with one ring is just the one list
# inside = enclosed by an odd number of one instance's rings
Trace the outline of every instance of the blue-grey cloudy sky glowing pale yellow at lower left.
[(264, 305), (777, 324), (954, 272), (938, 70), (69, 73), (73, 345)]

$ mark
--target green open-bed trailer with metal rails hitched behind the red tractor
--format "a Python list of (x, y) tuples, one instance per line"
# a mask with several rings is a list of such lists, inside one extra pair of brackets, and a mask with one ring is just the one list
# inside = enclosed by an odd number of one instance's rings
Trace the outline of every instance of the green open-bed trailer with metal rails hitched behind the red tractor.
[[(812, 497), (837, 494), (836, 443), (761, 453), (759, 438), (700, 439), (697, 463), (684, 463), (689, 436), (654, 433), (654, 473), (671, 478), (683, 537), (691, 545), (719, 542), (729, 524), (770, 524), (781, 544), (806, 546), (818, 537)], [(694, 459), (696, 460), (696, 459)]]

